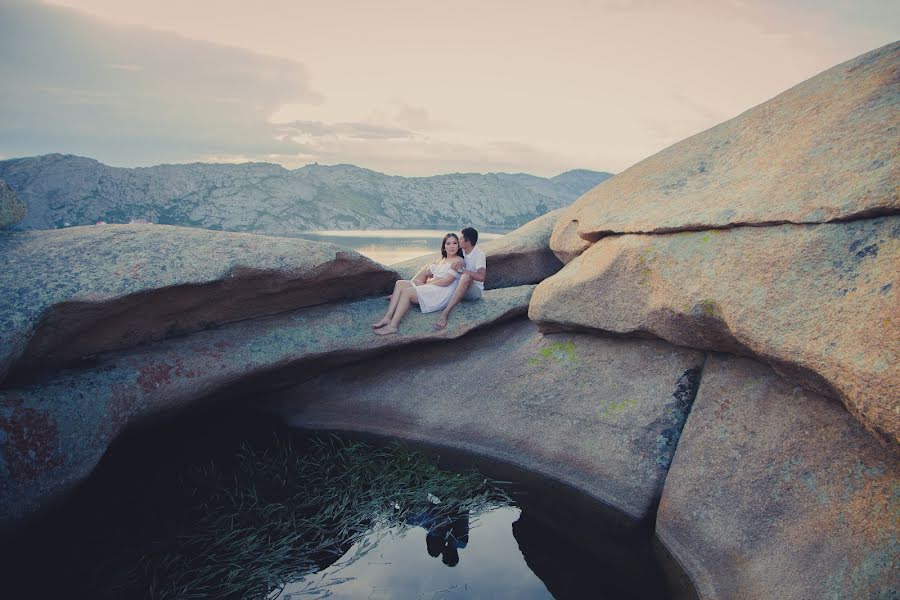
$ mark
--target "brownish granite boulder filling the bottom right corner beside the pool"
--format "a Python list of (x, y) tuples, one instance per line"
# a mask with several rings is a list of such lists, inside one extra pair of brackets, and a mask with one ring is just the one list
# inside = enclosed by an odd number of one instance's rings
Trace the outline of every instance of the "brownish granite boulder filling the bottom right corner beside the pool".
[(843, 407), (711, 357), (656, 533), (701, 598), (896, 598), (900, 468)]

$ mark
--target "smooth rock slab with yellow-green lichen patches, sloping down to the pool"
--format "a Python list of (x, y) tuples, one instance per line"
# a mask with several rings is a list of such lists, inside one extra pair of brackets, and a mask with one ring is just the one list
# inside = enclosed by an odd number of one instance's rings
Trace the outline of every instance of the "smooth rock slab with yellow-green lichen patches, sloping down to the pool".
[(659, 340), (543, 335), (518, 320), (324, 373), (273, 410), (300, 427), (475, 452), (645, 519), (704, 358)]

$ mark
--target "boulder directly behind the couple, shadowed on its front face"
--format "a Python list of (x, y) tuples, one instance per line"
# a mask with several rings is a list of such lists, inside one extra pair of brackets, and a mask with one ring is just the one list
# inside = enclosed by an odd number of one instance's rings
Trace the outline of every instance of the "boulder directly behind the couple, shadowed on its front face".
[[(539, 283), (562, 268), (550, 250), (550, 232), (563, 209), (549, 212), (502, 238), (479, 244), (487, 257), (485, 289)], [(393, 265), (401, 279), (412, 279), (422, 267), (440, 259), (440, 252)]]

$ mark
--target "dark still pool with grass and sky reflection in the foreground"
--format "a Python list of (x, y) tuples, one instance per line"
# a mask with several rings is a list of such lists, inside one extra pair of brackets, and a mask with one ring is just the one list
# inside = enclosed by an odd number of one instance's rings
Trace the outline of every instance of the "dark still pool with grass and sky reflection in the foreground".
[(6, 598), (692, 597), (647, 527), (556, 482), (245, 414), (129, 433), (2, 554)]

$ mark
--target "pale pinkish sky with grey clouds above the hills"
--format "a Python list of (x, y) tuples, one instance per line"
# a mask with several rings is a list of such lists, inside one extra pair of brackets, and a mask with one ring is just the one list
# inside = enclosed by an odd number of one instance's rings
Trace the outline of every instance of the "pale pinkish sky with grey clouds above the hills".
[(0, 0), (0, 158), (620, 172), (898, 34), (874, 0)]

